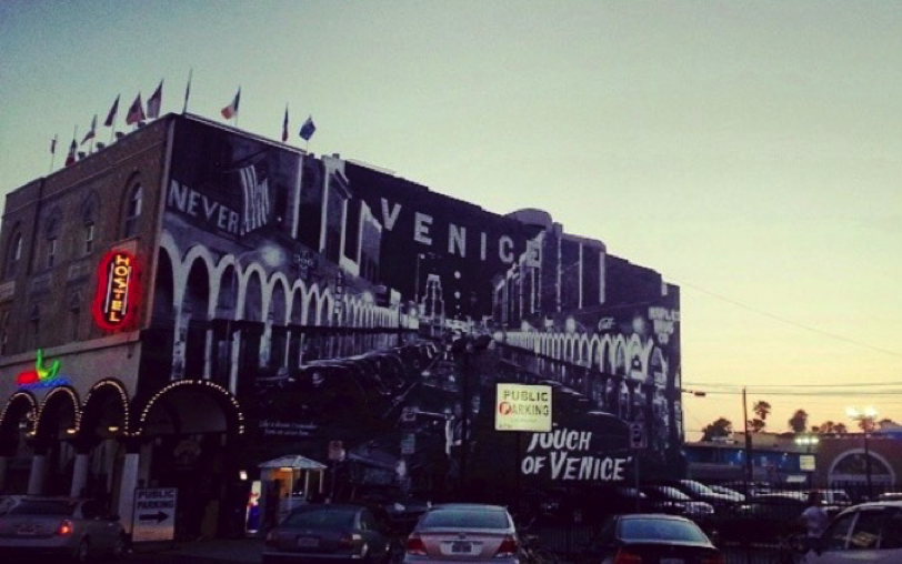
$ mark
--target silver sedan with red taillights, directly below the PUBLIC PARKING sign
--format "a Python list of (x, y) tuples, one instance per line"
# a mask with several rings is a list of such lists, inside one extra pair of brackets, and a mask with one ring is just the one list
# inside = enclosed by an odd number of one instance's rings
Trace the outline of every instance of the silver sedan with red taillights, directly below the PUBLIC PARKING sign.
[(451, 503), (425, 512), (408, 537), (404, 563), (519, 564), (520, 540), (502, 506)]

